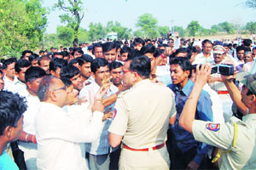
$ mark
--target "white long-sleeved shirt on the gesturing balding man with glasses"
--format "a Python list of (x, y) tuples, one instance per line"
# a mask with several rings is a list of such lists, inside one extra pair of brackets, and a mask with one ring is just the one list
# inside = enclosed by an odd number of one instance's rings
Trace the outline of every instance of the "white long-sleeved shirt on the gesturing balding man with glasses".
[(87, 169), (82, 143), (97, 139), (102, 116), (102, 112), (95, 111), (89, 124), (86, 113), (67, 113), (56, 105), (41, 102), (35, 117), (38, 169)]

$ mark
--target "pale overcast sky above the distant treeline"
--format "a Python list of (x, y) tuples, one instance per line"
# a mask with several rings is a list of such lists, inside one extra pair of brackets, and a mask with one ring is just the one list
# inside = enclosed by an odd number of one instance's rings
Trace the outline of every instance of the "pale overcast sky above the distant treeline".
[[(255, 21), (256, 9), (246, 8), (246, 0), (82, 0), (85, 16), (81, 27), (88, 29), (90, 22), (107, 25), (109, 20), (119, 21), (122, 26), (137, 30), (135, 26), (140, 15), (150, 13), (158, 20), (158, 26), (183, 26), (191, 20), (211, 28), (220, 22), (229, 21), (245, 25)], [(52, 8), (57, 0), (43, 0), (44, 7)], [(55, 33), (61, 25), (56, 9), (48, 16), (47, 33)], [(172, 22), (173, 21), (173, 22)]]

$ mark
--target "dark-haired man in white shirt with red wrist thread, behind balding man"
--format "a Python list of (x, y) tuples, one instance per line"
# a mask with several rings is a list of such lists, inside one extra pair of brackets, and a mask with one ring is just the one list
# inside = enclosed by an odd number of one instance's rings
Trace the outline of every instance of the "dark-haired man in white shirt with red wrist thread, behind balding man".
[[(25, 59), (23, 59), (25, 60)], [(19, 91), (20, 96), (26, 98), (27, 110), (23, 118), (23, 131), (20, 133), (20, 150), (24, 152), (26, 168), (37, 169), (37, 141), (35, 136), (34, 118), (38, 114), (40, 101), (37, 96), (39, 83), (46, 75), (40, 67), (30, 67), (25, 73), (26, 88)]]

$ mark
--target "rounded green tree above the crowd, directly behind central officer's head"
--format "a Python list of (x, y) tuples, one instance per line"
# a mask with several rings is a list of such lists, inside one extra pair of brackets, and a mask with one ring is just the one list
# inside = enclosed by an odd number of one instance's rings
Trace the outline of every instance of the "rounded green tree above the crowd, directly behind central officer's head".
[(158, 21), (152, 14), (142, 14), (139, 16), (136, 26), (141, 28), (144, 37), (155, 38), (159, 36), (157, 23)]

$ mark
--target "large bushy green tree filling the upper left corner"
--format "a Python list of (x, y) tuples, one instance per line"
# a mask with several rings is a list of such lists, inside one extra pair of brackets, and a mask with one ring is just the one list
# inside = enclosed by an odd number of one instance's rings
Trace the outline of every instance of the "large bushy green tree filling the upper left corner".
[(0, 1), (0, 55), (20, 55), (43, 39), (47, 18), (40, 0)]

